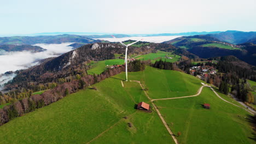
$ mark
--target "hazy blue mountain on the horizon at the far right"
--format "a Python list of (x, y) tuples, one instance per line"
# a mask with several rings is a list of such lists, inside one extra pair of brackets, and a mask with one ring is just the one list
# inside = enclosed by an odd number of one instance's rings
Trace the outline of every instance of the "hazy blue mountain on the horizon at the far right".
[(246, 43), (250, 39), (256, 38), (256, 32), (226, 31), (217, 34), (207, 34), (210, 37), (217, 38), (231, 44)]

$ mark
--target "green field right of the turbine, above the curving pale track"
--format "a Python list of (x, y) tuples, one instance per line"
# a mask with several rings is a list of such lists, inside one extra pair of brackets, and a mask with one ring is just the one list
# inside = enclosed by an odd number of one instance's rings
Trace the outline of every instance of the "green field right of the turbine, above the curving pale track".
[[(114, 77), (124, 79), (125, 75), (122, 73)], [(195, 76), (152, 67), (146, 67), (144, 71), (133, 72), (128, 75), (128, 79), (141, 81), (149, 89), (149, 97), (153, 99), (194, 95), (202, 86), (202, 81), (196, 79)]]

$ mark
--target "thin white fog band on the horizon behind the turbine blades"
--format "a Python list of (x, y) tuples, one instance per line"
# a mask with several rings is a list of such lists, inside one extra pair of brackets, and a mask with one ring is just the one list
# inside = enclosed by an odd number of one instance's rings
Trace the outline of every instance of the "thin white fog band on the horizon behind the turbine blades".
[(108, 40), (110, 42), (117, 42), (117, 41), (125, 41), (125, 40), (141, 40), (142, 41), (148, 41), (151, 43), (162, 43), (164, 41), (168, 41), (168, 40), (172, 40), (172, 39), (176, 39), (178, 37), (182, 37), (182, 36), (159, 36), (159, 37), (126, 37), (126, 38), (98, 38), (101, 40)]

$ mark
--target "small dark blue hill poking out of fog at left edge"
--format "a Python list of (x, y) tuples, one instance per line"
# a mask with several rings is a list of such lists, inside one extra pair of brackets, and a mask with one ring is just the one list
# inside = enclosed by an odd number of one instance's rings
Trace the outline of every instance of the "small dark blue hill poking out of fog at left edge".
[(31, 51), (31, 52), (42, 52), (45, 51), (40, 46), (32, 46), (32, 45), (0, 45), (0, 51)]

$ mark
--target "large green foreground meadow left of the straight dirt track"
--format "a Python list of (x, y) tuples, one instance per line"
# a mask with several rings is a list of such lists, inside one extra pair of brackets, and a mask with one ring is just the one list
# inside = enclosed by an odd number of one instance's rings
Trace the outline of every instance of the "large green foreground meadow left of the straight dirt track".
[(134, 109), (149, 103), (137, 82), (123, 88), (108, 78), (94, 86), (2, 125), (1, 143), (174, 143), (154, 110)]

